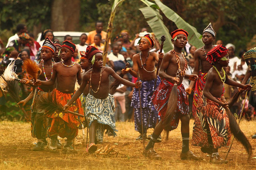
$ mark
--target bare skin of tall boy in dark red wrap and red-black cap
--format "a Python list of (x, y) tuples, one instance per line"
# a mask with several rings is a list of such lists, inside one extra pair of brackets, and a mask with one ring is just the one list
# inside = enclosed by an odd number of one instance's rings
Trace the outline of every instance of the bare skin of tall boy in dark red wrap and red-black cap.
[[(172, 43), (174, 45), (175, 52), (182, 53), (182, 49), (185, 47), (187, 43), (187, 37), (184, 34), (178, 34), (177, 39), (175, 41), (172, 39)], [(177, 54), (177, 55), (180, 60), (180, 68), (181, 70), (183, 70), (185, 67), (185, 59), (183, 58), (182, 54)], [(159, 70), (159, 76), (161, 78), (165, 78), (171, 83), (177, 83), (179, 86), (182, 83), (183, 77), (176, 78), (177, 70), (178, 70), (178, 64), (176, 62), (176, 55), (172, 51), (169, 51), (164, 55), (164, 58)], [(185, 74), (185, 77), (192, 81), (196, 81), (198, 79), (198, 76), (195, 74), (191, 74), (191, 75)], [(189, 133), (189, 121), (190, 121), (189, 115), (181, 115), (180, 121), (181, 121), (181, 133)], [(161, 120), (156, 125), (154, 129), (154, 134), (160, 135), (163, 130), (164, 130), (164, 127), (162, 125), (162, 120)]]

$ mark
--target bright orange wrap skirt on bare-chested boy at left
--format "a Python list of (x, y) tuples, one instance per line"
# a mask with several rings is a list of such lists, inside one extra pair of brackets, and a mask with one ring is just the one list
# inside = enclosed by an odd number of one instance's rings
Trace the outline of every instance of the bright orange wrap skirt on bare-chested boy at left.
[[(67, 104), (67, 102), (74, 95), (74, 93), (62, 93), (56, 89), (54, 89), (53, 92), (54, 95), (56, 95), (58, 104), (60, 104), (62, 107)], [(84, 115), (82, 104), (79, 98), (70, 106), (69, 111)], [(49, 116), (47, 135), (49, 137), (53, 135), (59, 135), (62, 138), (67, 137), (68, 139), (74, 139), (78, 134), (78, 128), (82, 127), (81, 123), (83, 121), (83, 117), (79, 117), (71, 113), (55, 112)]]

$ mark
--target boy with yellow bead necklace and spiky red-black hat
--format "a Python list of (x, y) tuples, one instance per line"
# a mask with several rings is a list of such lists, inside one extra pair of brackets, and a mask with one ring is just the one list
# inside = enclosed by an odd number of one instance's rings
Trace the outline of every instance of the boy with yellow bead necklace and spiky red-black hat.
[(231, 131), (229, 119), (225, 107), (228, 103), (221, 100), (223, 83), (230, 86), (250, 90), (250, 84), (240, 84), (228, 78), (223, 67), (227, 67), (228, 50), (223, 45), (218, 45), (207, 53), (207, 61), (212, 67), (206, 76), (203, 93), (198, 99), (197, 117), (193, 129), (192, 145), (202, 147), (203, 152), (210, 154), (210, 162), (214, 164), (226, 164), (227, 160), (220, 158), (218, 148), (229, 145)]

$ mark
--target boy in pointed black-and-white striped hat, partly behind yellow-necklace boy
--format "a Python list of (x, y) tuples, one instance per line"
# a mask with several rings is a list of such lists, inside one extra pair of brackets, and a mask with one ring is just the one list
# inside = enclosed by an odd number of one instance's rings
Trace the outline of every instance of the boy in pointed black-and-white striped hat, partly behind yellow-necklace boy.
[[(195, 68), (193, 74), (198, 75), (198, 80), (196, 82), (190, 82), (188, 88), (186, 89), (186, 92), (188, 94), (190, 94), (192, 90), (194, 90), (194, 98), (192, 105), (193, 117), (196, 115), (198, 97), (200, 96), (200, 93), (204, 89), (206, 74), (210, 70), (210, 68), (212, 68), (211, 64), (206, 60), (206, 54), (208, 53), (208, 51), (215, 47), (213, 45), (215, 35), (216, 33), (212, 28), (212, 23), (209, 23), (209, 25), (204, 29), (202, 35), (202, 41), (204, 43), (204, 46), (200, 49), (197, 49), (194, 54)], [(201, 68), (201, 70), (199, 70), (199, 68)]]

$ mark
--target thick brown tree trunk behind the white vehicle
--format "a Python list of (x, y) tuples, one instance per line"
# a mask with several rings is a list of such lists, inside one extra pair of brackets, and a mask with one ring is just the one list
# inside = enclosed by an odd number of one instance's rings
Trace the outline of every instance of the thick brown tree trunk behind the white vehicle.
[(53, 31), (78, 31), (80, 0), (53, 0), (51, 29)]

